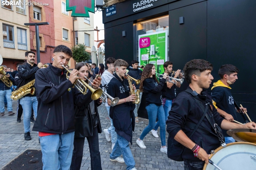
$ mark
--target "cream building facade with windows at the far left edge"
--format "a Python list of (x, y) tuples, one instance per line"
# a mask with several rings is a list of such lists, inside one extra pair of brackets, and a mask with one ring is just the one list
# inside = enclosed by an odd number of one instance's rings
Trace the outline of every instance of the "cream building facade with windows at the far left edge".
[(25, 60), (30, 50), (29, 7), (2, 5), (0, 7), (0, 55), (3, 65), (16, 70), (16, 65)]

